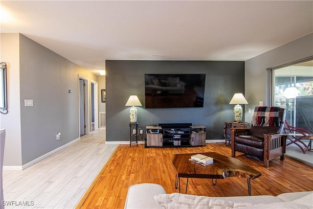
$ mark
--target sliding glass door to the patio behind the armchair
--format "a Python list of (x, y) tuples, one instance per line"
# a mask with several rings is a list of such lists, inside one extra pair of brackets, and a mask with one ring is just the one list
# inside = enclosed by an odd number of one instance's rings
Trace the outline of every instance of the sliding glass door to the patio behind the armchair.
[[(313, 57), (270, 70), (271, 104), (285, 109), (289, 125), (313, 132)], [(308, 146), (311, 143), (309, 139), (301, 141)], [(287, 139), (286, 156), (313, 166), (313, 152), (303, 153), (290, 142)]]

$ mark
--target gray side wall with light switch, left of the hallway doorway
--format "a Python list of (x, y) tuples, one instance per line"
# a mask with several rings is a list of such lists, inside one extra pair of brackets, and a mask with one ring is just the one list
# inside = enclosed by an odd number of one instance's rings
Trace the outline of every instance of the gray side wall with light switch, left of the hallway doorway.
[[(20, 35), (22, 164), (79, 138), (78, 74), (97, 80), (88, 70)], [(33, 99), (34, 106), (25, 107), (24, 99)], [(61, 140), (56, 140), (58, 132)]]

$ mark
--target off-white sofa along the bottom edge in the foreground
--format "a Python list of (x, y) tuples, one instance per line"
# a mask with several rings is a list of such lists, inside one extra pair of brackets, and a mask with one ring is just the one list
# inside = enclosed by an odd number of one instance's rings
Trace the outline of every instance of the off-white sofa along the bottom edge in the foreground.
[(130, 186), (125, 209), (313, 209), (313, 191), (278, 196), (205, 197), (180, 193), (166, 194), (157, 184)]

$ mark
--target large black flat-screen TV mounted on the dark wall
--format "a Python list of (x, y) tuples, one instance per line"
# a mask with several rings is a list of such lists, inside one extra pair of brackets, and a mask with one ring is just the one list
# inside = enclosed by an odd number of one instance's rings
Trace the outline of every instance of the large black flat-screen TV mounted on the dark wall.
[(146, 108), (203, 107), (205, 74), (145, 74)]

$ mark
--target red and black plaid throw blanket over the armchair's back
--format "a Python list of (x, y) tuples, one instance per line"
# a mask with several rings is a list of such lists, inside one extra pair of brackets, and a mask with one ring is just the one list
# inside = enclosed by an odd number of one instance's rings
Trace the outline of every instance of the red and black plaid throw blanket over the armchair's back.
[(251, 126), (280, 126), (279, 107), (255, 107)]

